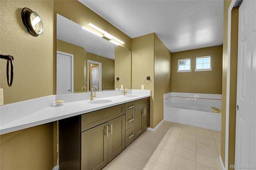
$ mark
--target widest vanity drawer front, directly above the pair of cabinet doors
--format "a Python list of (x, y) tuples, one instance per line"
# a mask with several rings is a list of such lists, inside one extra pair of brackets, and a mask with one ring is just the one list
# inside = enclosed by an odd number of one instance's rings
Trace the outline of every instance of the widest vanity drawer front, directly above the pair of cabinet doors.
[(122, 104), (82, 115), (81, 132), (124, 115), (124, 107), (125, 105)]

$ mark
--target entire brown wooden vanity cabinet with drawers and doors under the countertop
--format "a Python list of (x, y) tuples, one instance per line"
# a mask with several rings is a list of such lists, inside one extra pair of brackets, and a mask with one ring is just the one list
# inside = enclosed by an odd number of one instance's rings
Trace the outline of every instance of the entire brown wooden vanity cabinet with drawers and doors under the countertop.
[(60, 170), (104, 168), (149, 127), (149, 99), (58, 121)]

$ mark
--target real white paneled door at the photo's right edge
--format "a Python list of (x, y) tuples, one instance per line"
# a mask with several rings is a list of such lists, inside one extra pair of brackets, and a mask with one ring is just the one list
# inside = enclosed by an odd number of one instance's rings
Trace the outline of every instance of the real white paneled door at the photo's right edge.
[[(256, 1), (239, 7), (235, 164), (256, 168)], [(240, 167), (239, 167), (240, 166)]]

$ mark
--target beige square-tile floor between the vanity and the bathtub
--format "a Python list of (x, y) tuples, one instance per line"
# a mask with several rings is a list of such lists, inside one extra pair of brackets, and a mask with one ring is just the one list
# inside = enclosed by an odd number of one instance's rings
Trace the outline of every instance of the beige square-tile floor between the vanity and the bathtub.
[(146, 130), (104, 170), (221, 170), (220, 132), (164, 121)]

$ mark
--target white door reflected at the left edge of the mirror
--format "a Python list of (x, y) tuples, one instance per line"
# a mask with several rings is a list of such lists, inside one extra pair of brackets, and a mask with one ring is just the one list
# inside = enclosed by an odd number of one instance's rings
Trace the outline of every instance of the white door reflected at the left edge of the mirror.
[(71, 93), (71, 56), (57, 53), (56, 94)]

